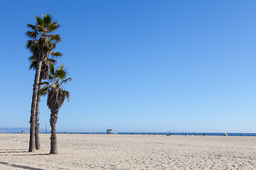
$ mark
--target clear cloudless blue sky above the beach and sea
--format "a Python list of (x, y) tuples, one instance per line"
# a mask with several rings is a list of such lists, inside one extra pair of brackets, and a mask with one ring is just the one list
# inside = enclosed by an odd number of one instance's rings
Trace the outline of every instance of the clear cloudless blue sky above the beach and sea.
[[(50, 13), (73, 78), (58, 131), (256, 132), (256, 1), (1, 1), (0, 127), (29, 127), (26, 23)], [(46, 98), (41, 129), (49, 128)]]

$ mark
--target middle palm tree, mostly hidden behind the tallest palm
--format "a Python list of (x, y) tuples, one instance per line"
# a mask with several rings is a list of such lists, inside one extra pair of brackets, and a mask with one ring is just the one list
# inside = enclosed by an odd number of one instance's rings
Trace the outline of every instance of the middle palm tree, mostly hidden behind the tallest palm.
[[(55, 64), (57, 61), (53, 59), (53, 57), (61, 57), (60, 52), (51, 52), (50, 53), (51, 58), (47, 57), (46, 60), (42, 62), (41, 66), (41, 73), (39, 77), (39, 86), (38, 91), (42, 88), (43, 80), (47, 79), (48, 77), (48, 63)], [(28, 60), (31, 62), (31, 65), (29, 66), (29, 69), (35, 69), (36, 70), (36, 64), (37, 61), (34, 59), (33, 56), (29, 57)], [(36, 102), (36, 127), (35, 127), (35, 140), (36, 140), (36, 149), (41, 149), (41, 143), (39, 138), (39, 115), (40, 115), (40, 101), (41, 96), (37, 96), (37, 102)]]

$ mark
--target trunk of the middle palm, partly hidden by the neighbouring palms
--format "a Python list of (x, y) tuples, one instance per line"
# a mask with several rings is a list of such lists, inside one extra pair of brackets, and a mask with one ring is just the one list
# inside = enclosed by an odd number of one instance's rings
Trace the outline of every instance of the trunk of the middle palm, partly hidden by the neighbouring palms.
[[(40, 77), (39, 85), (38, 85), (38, 91), (42, 88), (43, 77)], [(36, 128), (35, 128), (35, 138), (36, 138), (36, 149), (41, 149), (41, 143), (39, 139), (39, 109), (40, 109), (40, 101), (41, 96), (38, 95), (37, 103), (36, 103)]]

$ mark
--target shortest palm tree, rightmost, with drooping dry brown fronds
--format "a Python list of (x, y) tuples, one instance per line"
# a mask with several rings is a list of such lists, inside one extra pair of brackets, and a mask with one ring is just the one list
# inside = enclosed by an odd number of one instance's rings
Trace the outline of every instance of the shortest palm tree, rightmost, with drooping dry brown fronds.
[(47, 106), (50, 108), (50, 154), (58, 154), (56, 123), (58, 120), (58, 111), (65, 101), (65, 98), (70, 99), (70, 93), (65, 91), (63, 84), (70, 81), (71, 78), (66, 78), (66, 72), (63, 70), (64, 64), (61, 64), (60, 69), (55, 70), (53, 64), (49, 64), (49, 82), (44, 82), (44, 86), (39, 94), (46, 95)]

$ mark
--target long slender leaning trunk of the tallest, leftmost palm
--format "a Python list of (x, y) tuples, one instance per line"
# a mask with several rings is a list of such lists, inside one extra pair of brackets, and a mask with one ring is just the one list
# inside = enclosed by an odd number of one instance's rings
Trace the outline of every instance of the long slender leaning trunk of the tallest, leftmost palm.
[(36, 151), (36, 146), (35, 146), (36, 103), (37, 103), (37, 96), (38, 96), (38, 83), (39, 83), (39, 77), (41, 72), (41, 65), (42, 65), (42, 61), (38, 61), (36, 64), (36, 75), (35, 75), (35, 80), (33, 84), (33, 96), (32, 96), (32, 103), (31, 103), (31, 118), (30, 118), (31, 128), (30, 128), (28, 152)]

